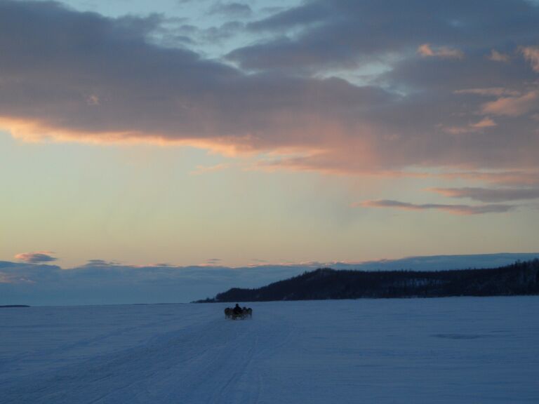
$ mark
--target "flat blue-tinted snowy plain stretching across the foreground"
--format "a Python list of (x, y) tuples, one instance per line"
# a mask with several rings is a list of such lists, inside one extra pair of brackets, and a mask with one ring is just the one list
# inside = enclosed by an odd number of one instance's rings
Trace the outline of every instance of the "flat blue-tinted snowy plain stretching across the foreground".
[(0, 309), (0, 403), (539, 403), (539, 297)]

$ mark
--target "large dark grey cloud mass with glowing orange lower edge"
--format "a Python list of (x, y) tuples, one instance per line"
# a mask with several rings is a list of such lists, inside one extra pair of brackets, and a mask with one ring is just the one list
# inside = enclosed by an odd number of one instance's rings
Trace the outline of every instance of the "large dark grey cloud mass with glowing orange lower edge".
[[(267, 39), (227, 56), (239, 68), (149, 41), (162, 24), (3, 1), (0, 126), (271, 152), (262, 164), (296, 170), (538, 168), (539, 9), (524, 0), (308, 1), (248, 25)], [(384, 68), (347, 81), (373, 63)], [(470, 88), (491, 100), (455, 93)]]

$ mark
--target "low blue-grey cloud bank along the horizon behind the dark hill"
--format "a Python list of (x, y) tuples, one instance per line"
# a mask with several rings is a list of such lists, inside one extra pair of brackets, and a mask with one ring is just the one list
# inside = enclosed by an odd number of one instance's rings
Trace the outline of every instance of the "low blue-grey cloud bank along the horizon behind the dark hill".
[(370, 262), (311, 262), (258, 267), (137, 267), (91, 260), (72, 269), (0, 261), (0, 304), (130, 304), (190, 302), (229, 288), (258, 288), (320, 267), (387, 271), (492, 268), (539, 254), (446, 255)]

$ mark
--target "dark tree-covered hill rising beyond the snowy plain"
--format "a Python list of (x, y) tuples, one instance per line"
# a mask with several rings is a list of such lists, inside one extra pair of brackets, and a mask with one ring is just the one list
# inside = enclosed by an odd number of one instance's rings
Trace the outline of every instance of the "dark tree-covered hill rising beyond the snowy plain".
[(258, 289), (232, 288), (199, 302), (539, 295), (539, 260), (493, 269), (335, 271), (324, 268)]

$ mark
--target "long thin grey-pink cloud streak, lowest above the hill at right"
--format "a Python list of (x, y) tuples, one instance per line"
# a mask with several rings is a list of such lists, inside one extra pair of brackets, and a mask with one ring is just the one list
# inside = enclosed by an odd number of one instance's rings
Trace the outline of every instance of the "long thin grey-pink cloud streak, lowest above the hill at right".
[(387, 199), (379, 201), (364, 201), (354, 204), (354, 206), (363, 206), (366, 208), (394, 208), (402, 210), (444, 210), (445, 212), (452, 213), (453, 215), (481, 215), (484, 213), (505, 213), (516, 206), (513, 205), (444, 205), (441, 203), (406, 203), (400, 201), (391, 201)]

